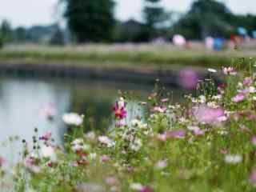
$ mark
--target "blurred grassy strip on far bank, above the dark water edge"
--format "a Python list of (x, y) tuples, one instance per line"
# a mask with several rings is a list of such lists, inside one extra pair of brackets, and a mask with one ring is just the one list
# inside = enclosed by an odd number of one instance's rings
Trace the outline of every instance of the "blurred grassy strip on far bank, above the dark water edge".
[[(253, 51), (214, 52), (203, 49), (185, 50), (172, 46), (8, 46), (0, 51), (0, 61), (70, 62), (82, 66), (138, 67), (170, 69), (173, 66), (215, 67), (234, 62), (242, 55), (254, 57)], [(90, 64), (89, 64), (90, 63)], [(107, 64), (107, 65), (106, 65)]]

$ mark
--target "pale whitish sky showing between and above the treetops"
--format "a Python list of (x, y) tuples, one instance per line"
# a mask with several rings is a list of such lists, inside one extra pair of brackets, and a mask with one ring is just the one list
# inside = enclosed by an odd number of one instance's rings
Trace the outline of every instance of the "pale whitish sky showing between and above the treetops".
[[(50, 24), (58, 21), (58, 0), (1, 0), (0, 21), (10, 20), (12, 26)], [(220, 0), (236, 14), (256, 14), (255, 0)], [(141, 18), (143, 0), (116, 0), (116, 16), (121, 20)], [(162, 0), (166, 10), (185, 12), (193, 0)]]

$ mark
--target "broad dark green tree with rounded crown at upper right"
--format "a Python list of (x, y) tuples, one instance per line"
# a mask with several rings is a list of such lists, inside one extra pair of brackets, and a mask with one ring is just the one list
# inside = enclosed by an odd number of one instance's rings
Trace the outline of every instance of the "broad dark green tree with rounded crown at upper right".
[(238, 26), (255, 29), (256, 17), (233, 14), (224, 3), (215, 0), (197, 0), (188, 13), (174, 24), (172, 34), (183, 34), (186, 38), (203, 39), (206, 36), (229, 38)]

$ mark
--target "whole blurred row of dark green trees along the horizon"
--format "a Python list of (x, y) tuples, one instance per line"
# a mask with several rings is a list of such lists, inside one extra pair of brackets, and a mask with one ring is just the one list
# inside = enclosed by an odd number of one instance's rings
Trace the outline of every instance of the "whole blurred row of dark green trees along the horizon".
[[(207, 36), (229, 38), (239, 26), (256, 30), (256, 16), (236, 15), (222, 2), (195, 0), (185, 14), (174, 18), (161, 6), (161, 0), (143, 0), (142, 21), (126, 22), (114, 17), (114, 0), (59, 0), (65, 5), (67, 29), (50, 26), (17, 27), (4, 20), (0, 26), (0, 46), (5, 42), (149, 42), (182, 34), (187, 39)], [(69, 38), (70, 37), (70, 38)]]

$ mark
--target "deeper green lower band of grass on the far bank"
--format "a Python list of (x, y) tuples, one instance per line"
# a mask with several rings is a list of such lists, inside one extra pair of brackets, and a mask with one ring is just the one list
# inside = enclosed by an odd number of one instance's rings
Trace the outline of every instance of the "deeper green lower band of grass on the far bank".
[[(0, 53), (0, 58), (10, 60), (33, 60), (36, 65), (39, 61), (45, 62), (95, 62), (94, 65), (100, 66), (106, 62), (110, 62), (114, 67), (136, 67), (136, 66), (153, 66), (155, 69), (164, 67), (170, 69), (172, 66), (218, 66), (220, 63), (230, 63), (230, 55), (210, 55), (205, 52), (192, 53), (192, 54), (181, 54), (178, 51), (174, 52), (150, 52), (150, 51), (137, 51), (137, 52), (126, 52), (126, 51), (115, 51), (108, 54), (100, 52), (66, 52), (66, 51), (37, 51), (37, 50), (22, 50), (22, 51), (5, 51)], [(236, 57), (235, 57), (236, 58)], [(126, 62), (125, 66), (122, 66), (120, 62)]]

